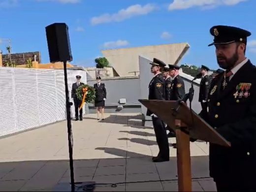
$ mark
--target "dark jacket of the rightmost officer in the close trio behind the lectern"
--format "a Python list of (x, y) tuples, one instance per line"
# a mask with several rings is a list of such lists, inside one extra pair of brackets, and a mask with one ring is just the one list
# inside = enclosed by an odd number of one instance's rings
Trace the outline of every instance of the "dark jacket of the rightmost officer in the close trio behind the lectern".
[(171, 97), (170, 100), (179, 100), (185, 96), (185, 85), (180, 75), (177, 75), (172, 80)]

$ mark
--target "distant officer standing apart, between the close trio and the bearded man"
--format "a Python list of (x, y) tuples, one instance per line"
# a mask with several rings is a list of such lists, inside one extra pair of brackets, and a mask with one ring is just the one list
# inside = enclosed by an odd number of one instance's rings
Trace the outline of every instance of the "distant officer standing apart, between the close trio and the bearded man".
[(199, 87), (199, 98), (198, 101), (201, 103), (202, 111), (207, 112), (207, 97), (212, 81), (212, 77), (208, 75), (209, 68), (205, 65), (201, 67), (201, 82)]

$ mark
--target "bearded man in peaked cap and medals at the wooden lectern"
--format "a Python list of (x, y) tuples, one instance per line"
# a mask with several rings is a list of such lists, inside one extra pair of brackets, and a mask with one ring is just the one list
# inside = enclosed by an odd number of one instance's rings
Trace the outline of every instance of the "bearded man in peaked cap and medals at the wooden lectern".
[(256, 191), (256, 67), (245, 57), (251, 32), (214, 26), (217, 62), (225, 71), (211, 83), (209, 112), (200, 116), (231, 147), (210, 143), (210, 176), (218, 192)]

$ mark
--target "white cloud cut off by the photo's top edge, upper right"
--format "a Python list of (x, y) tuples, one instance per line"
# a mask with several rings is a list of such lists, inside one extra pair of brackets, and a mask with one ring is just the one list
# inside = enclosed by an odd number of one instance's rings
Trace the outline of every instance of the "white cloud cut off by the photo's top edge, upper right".
[(188, 9), (191, 7), (214, 8), (219, 5), (235, 5), (247, 0), (173, 0), (168, 9)]

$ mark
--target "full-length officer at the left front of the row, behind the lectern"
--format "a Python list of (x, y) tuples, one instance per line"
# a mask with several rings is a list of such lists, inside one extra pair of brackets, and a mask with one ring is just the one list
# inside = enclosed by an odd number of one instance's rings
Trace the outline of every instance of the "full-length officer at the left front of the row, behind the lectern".
[[(156, 58), (154, 58), (153, 63), (150, 64), (152, 65), (151, 72), (155, 76), (149, 84), (149, 99), (165, 100), (165, 81), (161, 73), (165, 64)], [(164, 123), (150, 110), (147, 110), (147, 116), (152, 117), (153, 127), (159, 147), (158, 156), (153, 157), (152, 159), (154, 162), (169, 161), (169, 144)]]

